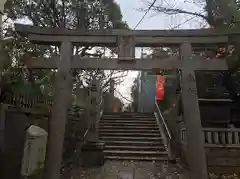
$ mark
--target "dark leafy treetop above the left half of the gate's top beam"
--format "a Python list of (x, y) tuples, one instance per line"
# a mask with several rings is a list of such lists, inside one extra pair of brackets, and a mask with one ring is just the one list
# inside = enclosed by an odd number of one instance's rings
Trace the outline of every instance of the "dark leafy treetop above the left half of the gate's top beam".
[(35, 26), (100, 29), (124, 24), (113, 0), (8, 0), (6, 13), (13, 20), (28, 19)]

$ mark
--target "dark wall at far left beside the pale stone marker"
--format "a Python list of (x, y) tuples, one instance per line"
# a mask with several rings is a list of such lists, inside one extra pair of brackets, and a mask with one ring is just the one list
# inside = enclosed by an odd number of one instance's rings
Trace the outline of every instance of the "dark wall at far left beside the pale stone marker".
[(3, 150), (0, 157), (3, 173), (0, 175), (0, 178), (19, 178), (27, 116), (18, 111), (7, 111), (5, 119)]

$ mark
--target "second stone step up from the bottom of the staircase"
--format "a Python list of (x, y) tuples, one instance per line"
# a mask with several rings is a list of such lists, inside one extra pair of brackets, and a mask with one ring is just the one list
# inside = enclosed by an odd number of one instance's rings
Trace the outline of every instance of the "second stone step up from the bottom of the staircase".
[(104, 154), (107, 156), (152, 156), (160, 157), (166, 156), (165, 151), (139, 151), (139, 150), (104, 150)]

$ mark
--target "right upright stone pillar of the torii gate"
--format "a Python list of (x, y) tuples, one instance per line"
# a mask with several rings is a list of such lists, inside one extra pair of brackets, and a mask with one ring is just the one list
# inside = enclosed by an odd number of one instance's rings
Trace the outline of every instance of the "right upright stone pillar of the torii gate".
[(198, 105), (196, 79), (192, 61), (192, 50), (190, 43), (180, 46), (182, 70), (182, 102), (184, 110), (184, 121), (187, 133), (187, 159), (192, 167), (190, 178), (207, 179), (207, 164), (204, 149), (204, 137), (201, 126), (200, 111)]

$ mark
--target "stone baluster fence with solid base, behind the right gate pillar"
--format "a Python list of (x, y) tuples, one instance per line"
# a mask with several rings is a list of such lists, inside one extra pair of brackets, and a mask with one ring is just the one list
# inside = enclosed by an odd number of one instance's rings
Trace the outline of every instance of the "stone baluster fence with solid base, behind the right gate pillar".
[[(240, 129), (203, 128), (208, 166), (240, 167)], [(186, 129), (181, 129), (181, 157), (187, 160)]]

